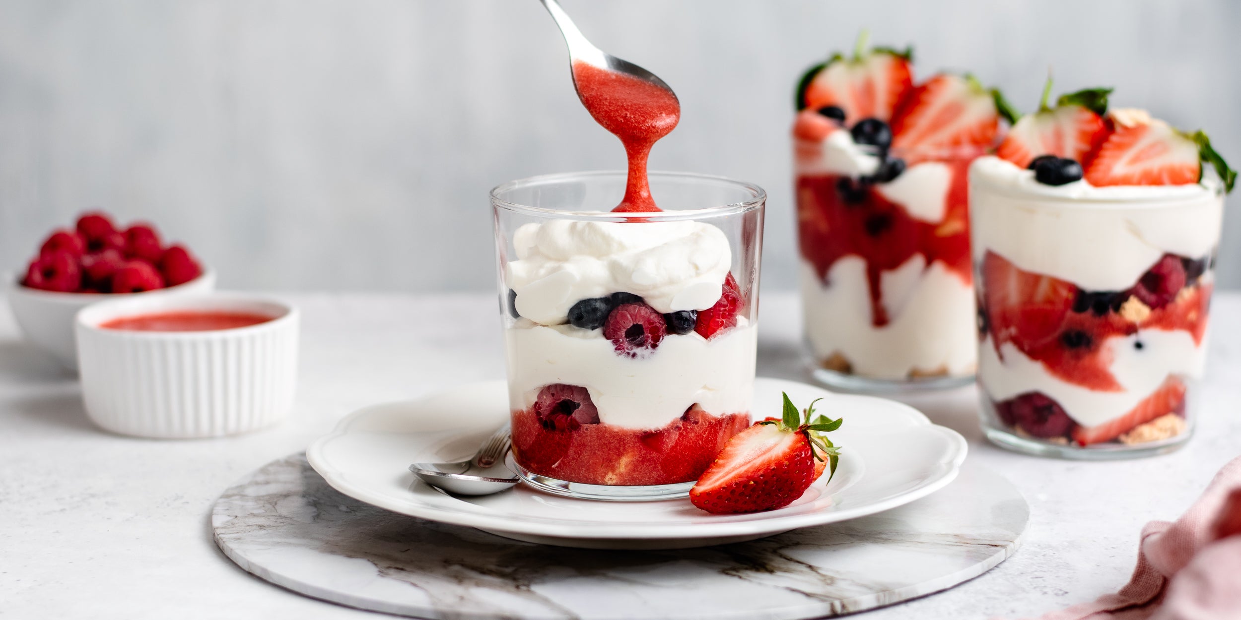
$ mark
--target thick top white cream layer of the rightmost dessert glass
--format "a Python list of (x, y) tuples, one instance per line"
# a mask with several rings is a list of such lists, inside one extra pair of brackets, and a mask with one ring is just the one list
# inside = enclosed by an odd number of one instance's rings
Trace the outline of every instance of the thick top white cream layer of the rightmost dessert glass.
[(1034, 180), (995, 156), (969, 167), (975, 262), (993, 250), (1018, 268), (1085, 290), (1124, 290), (1164, 253), (1189, 258), (1219, 244), (1224, 192), (1194, 185), (1095, 187)]

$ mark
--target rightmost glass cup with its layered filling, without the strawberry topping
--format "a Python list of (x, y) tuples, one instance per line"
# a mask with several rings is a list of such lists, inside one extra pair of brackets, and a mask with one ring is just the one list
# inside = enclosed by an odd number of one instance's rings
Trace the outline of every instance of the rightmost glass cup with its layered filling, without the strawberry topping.
[(1184, 445), (1222, 188), (1037, 187), (1015, 182), (1016, 170), (987, 157), (970, 171), (983, 432), (1067, 459)]

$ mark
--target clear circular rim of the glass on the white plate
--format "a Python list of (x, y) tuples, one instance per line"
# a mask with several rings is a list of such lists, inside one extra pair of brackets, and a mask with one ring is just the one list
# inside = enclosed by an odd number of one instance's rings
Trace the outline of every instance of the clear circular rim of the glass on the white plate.
[(643, 211), (635, 213), (614, 213), (612, 211), (571, 211), (560, 208), (547, 208), (547, 207), (534, 207), (530, 205), (520, 205), (511, 202), (509, 200), (501, 198), (504, 192), (511, 192), (517, 188), (535, 186), (535, 185), (551, 185), (556, 182), (576, 181), (582, 179), (603, 179), (603, 177), (618, 177), (624, 180), (628, 175), (625, 170), (588, 170), (578, 172), (552, 172), (547, 175), (527, 176), (525, 179), (517, 179), (514, 181), (508, 181), (495, 187), (488, 195), (491, 198), (491, 207), (496, 210), (504, 210), (514, 213), (525, 213), (540, 217), (572, 217), (573, 219), (585, 221), (601, 221), (601, 222), (676, 222), (685, 219), (705, 219), (712, 217), (724, 217), (736, 213), (745, 213), (747, 211), (753, 211), (763, 206), (767, 201), (767, 191), (762, 187), (746, 182), (737, 181), (735, 179), (728, 179), (717, 175), (704, 175), (699, 172), (676, 172), (666, 170), (656, 170), (648, 172), (648, 179), (673, 179), (673, 180), (691, 180), (691, 181), (707, 181), (731, 186), (733, 188), (742, 190), (751, 195), (750, 200), (741, 202), (730, 202), (727, 205), (717, 205), (712, 207), (704, 208), (684, 208), (684, 210), (671, 210), (671, 211)]

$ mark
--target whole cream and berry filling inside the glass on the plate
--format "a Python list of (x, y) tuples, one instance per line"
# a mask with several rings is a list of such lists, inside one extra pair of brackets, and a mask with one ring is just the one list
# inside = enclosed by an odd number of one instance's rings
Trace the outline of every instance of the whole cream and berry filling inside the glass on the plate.
[(568, 482), (696, 480), (750, 424), (757, 332), (720, 228), (525, 224), (505, 265), (516, 463)]

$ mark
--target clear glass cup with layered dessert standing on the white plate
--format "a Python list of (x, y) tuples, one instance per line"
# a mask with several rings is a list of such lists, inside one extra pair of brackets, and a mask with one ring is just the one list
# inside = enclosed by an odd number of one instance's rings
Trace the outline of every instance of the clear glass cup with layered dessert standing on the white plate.
[(623, 171), (491, 191), (513, 458), (536, 489), (684, 497), (750, 425), (766, 193), (649, 177), (665, 211), (611, 212)]

